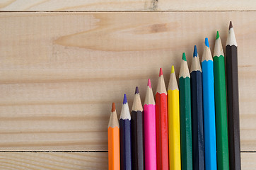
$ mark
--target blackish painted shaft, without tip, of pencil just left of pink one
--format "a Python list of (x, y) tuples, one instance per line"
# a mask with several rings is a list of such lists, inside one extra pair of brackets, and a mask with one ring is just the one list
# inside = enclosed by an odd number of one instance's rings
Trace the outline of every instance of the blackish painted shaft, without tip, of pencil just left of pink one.
[(134, 170), (144, 170), (144, 115), (132, 111), (132, 164)]

